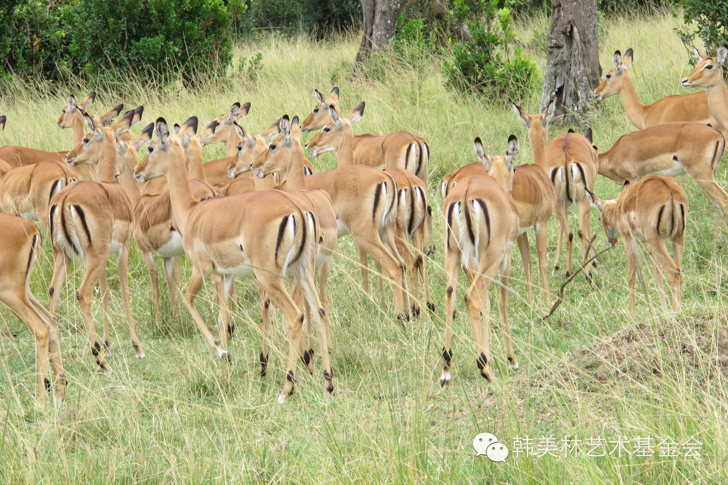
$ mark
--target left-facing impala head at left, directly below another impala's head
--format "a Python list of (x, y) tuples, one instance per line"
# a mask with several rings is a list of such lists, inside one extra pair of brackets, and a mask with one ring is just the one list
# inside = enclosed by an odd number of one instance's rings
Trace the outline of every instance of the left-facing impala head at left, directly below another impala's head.
[(86, 111), (82, 111), (89, 133), (84, 135), (81, 143), (66, 154), (66, 163), (74, 165), (90, 165), (97, 163), (108, 151), (116, 151), (116, 137), (129, 130), (134, 124), (137, 110), (124, 113), (114, 124), (104, 127), (96, 122)]

